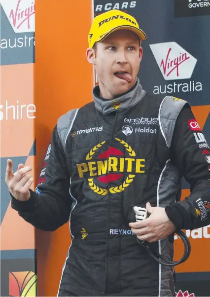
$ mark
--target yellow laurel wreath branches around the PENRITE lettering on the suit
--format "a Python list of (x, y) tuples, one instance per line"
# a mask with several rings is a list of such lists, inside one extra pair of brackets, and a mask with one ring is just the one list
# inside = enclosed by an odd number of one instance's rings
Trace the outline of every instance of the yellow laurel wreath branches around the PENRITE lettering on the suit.
[[(128, 151), (129, 155), (130, 156), (136, 156), (136, 153), (135, 151), (131, 148), (131, 146), (129, 146), (124, 140), (121, 140), (119, 138), (115, 138), (117, 141), (119, 141), (119, 143), (121, 143), (125, 148), (126, 150)], [(95, 146), (94, 148), (92, 148), (89, 153), (87, 154), (86, 156), (86, 160), (91, 160), (93, 155), (95, 154), (95, 152), (97, 151), (97, 149), (101, 148), (103, 145), (105, 144), (105, 141), (103, 141), (102, 143), (98, 144), (97, 146)], [(122, 192), (125, 190), (125, 188), (127, 186), (129, 186), (134, 178), (135, 178), (136, 175), (134, 174), (129, 174), (129, 176), (126, 178), (126, 181), (123, 182), (122, 185), (120, 186), (113, 186), (113, 187), (110, 187), (109, 188), (109, 192), (112, 193), (112, 194), (115, 194), (115, 193), (119, 193), (119, 192)], [(102, 187), (99, 187), (97, 186), (93, 179), (90, 178), (88, 179), (88, 185), (90, 186), (90, 188), (97, 194), (99, 195), (102, 195), (102, 196), (105, 196), (108, 192), (108, 190), (106, 190), (105, 188), (102, 188)]]

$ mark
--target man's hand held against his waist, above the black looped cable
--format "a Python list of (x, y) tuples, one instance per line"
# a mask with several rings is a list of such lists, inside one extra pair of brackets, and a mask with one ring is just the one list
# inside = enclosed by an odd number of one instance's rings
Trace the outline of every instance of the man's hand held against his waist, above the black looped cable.
[(169, 220), (164, 207), (152, 207), (146, 203), (150, 216), (140, 222), (129, 223), (131, 230), (140, 240), (155, 242), (175, 232), (175, 225)]

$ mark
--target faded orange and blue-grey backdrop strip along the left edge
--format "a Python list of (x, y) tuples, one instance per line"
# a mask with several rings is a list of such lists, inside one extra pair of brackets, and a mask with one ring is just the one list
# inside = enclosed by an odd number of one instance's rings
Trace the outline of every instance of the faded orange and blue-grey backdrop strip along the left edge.
[(35, 228), (11, 208), (5, 183), (8, 158), (13, 172), (20, 163), (34, 172), (34, 50), (34, 1), (0, 0), (1, 296), (37, 295)]

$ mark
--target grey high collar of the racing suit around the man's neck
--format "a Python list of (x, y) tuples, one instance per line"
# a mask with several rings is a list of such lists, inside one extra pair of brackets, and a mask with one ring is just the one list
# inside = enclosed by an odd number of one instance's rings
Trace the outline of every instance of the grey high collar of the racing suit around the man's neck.
[(97, 85), (94, 87), (92, 93), (95, 107), (98, 111), (103, 112), (103, 114), (107, 114), (115, 110), (131, 108), (143, 98), (146, 92), (142, 89), (142, 86), (140, 85), (140, 80), (139, 78), (137, 78), (135, 86), (131, 88), (128, 92), (117, 97), (116, 99), (110, 100), (101, 98), (98, 96), (99, 93), (100, 90), (99, 86)]

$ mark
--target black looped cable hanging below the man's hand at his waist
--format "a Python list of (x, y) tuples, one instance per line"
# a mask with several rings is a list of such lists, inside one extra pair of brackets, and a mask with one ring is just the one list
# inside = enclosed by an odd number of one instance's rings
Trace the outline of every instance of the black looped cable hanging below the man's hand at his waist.
[(142, 247), (144, 247), (147, 250), (149, 255), (160, 264), (165, 266), (176, 266), (188, 259), (191, 252), (191, 245), (187, 235), (182, 230), (177, 230), (175, 231), (175, 233), (181, 238), (181, 240), (184, 243), (184, 254), (182, 258), (178, 261), (171, 261), (171, 260), (165, 259), (161, 254), (158, 253), (156, 249), (154, 249), (154, 245), (152, 243), (141, 241), (139, 240), (138, 237), (137, 237), (137, 241)]

